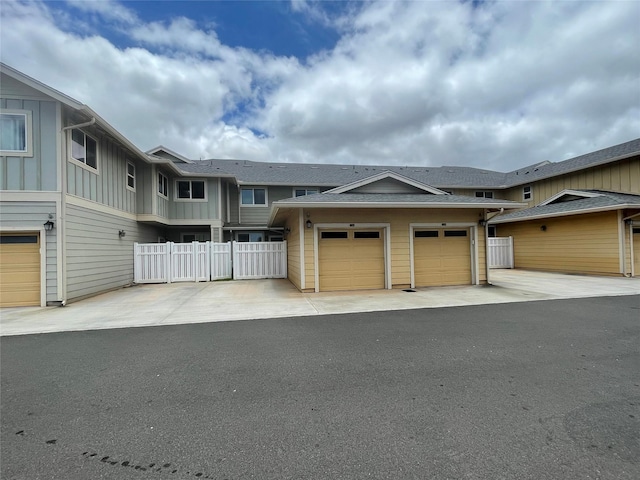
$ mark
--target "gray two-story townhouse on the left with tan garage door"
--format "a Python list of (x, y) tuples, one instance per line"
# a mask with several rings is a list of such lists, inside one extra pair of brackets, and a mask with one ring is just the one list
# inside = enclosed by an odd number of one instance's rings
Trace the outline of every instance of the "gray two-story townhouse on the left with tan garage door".
[(0, 74), (0, 305), (131, 284), (135, 242), (221, 238), (220, 177), (185, 175), (81, 102), (7, 65)]

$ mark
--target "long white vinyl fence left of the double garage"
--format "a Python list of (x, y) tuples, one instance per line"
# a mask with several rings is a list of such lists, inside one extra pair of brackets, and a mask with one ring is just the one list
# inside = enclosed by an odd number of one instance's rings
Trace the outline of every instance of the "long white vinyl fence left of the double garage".
[(287, 278), (287, 242), (136, 243), (135, 283)]

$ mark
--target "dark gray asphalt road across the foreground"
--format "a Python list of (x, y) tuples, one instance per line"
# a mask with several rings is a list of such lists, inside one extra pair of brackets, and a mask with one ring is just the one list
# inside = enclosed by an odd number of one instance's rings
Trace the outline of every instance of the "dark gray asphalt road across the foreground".
[(3, 337), (1, 361), (4, 480), (640, 478), (639, 296)]

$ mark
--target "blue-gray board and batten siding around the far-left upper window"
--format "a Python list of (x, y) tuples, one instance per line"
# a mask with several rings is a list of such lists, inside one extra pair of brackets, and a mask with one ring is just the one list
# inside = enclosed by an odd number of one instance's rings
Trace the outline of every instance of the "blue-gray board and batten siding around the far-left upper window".
[[(3, 75), (4, 81), (9, 77)], [(4, 95), (5, 86), (2, 86)], [(57, 106), (54, 101), (1, 98), (2, 110), (31, 112), (32, 156), (0, 156), (0, 189), (56, 191)]]

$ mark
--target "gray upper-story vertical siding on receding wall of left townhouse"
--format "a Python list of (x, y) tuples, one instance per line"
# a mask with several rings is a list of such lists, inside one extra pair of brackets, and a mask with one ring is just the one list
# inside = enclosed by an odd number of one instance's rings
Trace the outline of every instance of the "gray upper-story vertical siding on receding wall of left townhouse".
[[(137, 213), (136, 192), (126, 187), (127, 161), (131, 161), (132, 157), (109, 137), (96, 134), (95, 129), (90, 127), (81, 130), (98, 141), (98, 170), (83, 168), (67, 159), (67, 193), (128, 213)], [(67, 150), (70, 148), (67, 145)], [(136, 163), (136, 167), (139, 165), (141, 163)]]

